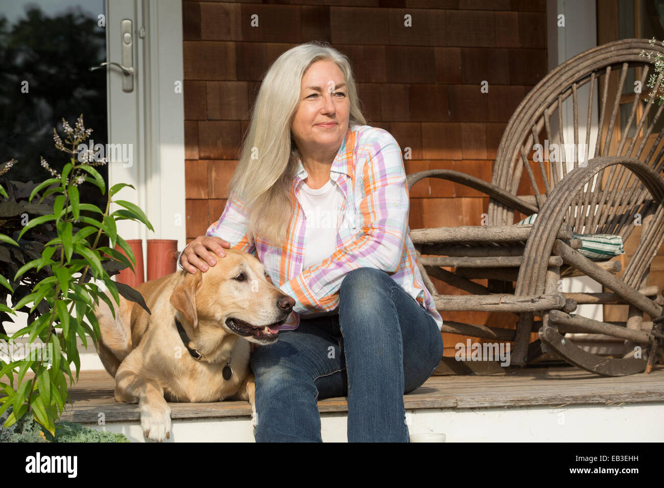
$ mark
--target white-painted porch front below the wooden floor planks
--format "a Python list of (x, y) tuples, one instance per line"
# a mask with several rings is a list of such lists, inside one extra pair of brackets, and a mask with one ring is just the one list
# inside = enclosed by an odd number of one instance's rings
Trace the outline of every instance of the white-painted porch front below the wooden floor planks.
[[(406, 410), (411, 435), (442, 433), (446, 442), (661, 442), (663, 413), (661, 402)], [(345, 413), (321, 414), (323, 442), (347, 442), (347, 419)], [(137, 421), (84, 426), (146, 442)], [(255, 442), (254, 428), (248, 416), (175, 420), (164, 442)]]

